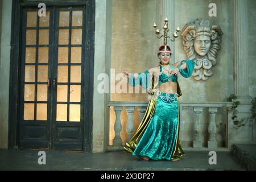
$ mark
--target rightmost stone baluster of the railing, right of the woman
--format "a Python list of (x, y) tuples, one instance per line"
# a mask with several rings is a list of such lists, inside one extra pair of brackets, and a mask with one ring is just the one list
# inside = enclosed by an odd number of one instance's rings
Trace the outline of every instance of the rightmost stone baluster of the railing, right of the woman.
[(217, 141), (216, 141), (216, 113), (218, 111), (218, 107), (209, 107), (209, 114), (210, 114), (210, 121), (209, 121), (209, 140), (208, 140), (208, 148), (217, 148)]

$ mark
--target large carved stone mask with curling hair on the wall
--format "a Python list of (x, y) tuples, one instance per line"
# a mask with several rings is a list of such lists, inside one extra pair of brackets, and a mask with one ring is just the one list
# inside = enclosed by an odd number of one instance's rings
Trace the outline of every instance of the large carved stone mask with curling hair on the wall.
[(195, 80), (208, 80), (213, 75), (217, 54), (221, 49), (223, 32), (208, 19), (196, 19), (181, 31), (183, 46), (188, 59), (195, 62), (192, 76)]

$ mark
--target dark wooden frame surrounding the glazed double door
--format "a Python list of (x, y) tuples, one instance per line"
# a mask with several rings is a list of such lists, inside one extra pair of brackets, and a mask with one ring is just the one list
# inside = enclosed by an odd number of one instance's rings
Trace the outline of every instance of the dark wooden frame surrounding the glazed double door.
[[(20, 85), (20, 56), (22, 45), (22, 9), (38, 7), (38, 2), (22, 3), (13, 0), (11, 20), (11, 55), (10, 55), (10, 89), (9, 89), (9, 131), (8, 149), (18, 150), (19, 125), (19, 85)], [(85, 22), (85, 60), (84, 70), (84, 152), (92, 152), (92, 125), (93, 125), (93, 69), (94, 69), (94, 30), (95, 30), (95, 0), (84, 1), (57, 1), (44, 2), (47, 7), (86, 6)], [(88, 46), (89, 45), (89, 46)]]

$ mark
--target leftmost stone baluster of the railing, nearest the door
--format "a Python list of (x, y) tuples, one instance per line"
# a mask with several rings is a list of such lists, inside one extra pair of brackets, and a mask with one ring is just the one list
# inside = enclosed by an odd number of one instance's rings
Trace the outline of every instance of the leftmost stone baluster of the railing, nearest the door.
[(121, 138), (121, 130), (122, 130), (122, 125), (121, 125), (121, 111), (123, 109), (123, 106), (114, 106), (115, 110), (115, 125), (114, 125), (114, 131), (115, 131), (115, 137), (113, 139), (113, 146), (122, 146), (122, 138)]

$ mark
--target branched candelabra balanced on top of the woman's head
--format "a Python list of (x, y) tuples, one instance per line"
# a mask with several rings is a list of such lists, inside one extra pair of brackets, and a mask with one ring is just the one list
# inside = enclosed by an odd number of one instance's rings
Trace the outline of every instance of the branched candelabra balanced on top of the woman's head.
[[(163, 28), (160, 28), (160, 30), (158, 26), (156, 26), (156, 23), (154, 23), (154, 26), (153, 26), (155, 28), (155, 34), (157, 35), (157, 38), (158, 39), (161, 39), (162, 37), (164, 38), (164, 46), (167, 46), (167, 38), (169, 38), (172, 42), (174, 42), (175, 39), (179, 37), (177, 34), (178, 32), (180, 32), (180, 27), (177, 27), (175, 32), (172, 33), (172, 38), (170, 38), (170, 36), (168, 36), (168, 31), (170, 31), (170, 29), (168, 28), (168, 21), (169, 20), (167, 18), (164, 20), (164, 26)], [(160, 32), (162, 30), (163, 30), (163, 34), (161, 35)]]

